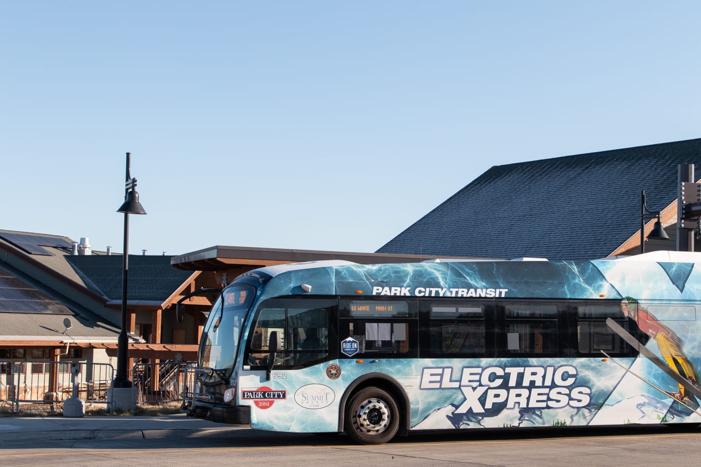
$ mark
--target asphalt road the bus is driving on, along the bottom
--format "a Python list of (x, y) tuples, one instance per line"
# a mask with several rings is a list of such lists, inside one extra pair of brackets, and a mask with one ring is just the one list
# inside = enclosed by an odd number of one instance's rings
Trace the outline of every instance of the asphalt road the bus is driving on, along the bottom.
[(437, 433), (379, 446), (353, 445), (345, 435), (239, 428), (144, 433), (141, 438), (18, 440), (0, 445), (0, 466), (698, 466), (700, 443), (701, 429), (666, 426)]

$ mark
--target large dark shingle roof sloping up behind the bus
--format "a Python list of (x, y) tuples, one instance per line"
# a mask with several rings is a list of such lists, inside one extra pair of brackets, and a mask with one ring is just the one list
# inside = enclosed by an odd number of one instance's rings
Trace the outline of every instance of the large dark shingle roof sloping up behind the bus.
[[(496, 165), (377, 250), (594, 259), (676, 199), (678, 165), (701, 174), (701, 139)], [(671, 249), (674, 249), (672, 245)]]

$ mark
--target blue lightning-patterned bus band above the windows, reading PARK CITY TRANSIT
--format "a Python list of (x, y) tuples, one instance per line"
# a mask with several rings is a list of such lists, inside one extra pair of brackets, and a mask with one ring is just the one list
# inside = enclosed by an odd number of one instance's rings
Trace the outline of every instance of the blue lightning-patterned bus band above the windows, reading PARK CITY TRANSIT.
[(406, 264), (327, 261), (250, 271), (268, 276), (261, 299), (284, 295), (698, 299), (701, 253), (650, 252), (592, 261), (519, 259)]

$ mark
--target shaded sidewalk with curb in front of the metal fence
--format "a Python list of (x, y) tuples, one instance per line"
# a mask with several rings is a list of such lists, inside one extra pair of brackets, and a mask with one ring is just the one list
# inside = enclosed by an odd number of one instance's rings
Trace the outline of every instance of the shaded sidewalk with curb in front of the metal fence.
[(192, 433), (241, 428), (187, 417), (186, 414), (159, 417), (0, 417), (0, 447), (4, 442), (28, 440), (184, 437)]

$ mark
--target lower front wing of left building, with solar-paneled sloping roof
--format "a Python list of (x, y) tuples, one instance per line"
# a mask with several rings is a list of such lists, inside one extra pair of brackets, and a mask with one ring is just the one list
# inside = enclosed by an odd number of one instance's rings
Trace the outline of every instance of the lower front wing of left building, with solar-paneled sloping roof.
[(91, 389), (109, 384), (104, 347), (116, 346), (118, 328), (1, 261), (0, 332), (0, 400), (67, 397), (76, 363), (92, 364)]

